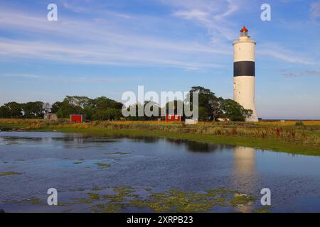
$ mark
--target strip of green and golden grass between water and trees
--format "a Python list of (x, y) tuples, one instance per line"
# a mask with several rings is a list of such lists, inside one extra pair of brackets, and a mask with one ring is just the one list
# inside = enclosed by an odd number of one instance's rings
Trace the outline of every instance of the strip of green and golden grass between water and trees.
[(0, 119), (0, 129), (60, 131), (95, 135), (161, 136), (206, 143), (242, 145), (301, 155), (320, 155), (320, 121), (201, 122), (194, 126), (164, 121)]

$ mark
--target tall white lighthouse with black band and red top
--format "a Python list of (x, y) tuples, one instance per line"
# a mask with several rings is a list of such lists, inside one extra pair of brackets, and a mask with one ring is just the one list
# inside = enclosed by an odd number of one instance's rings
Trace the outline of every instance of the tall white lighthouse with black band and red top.
[(233, 100), (253, 111), (246, 121), (258, 121), (255, 109), (255, 40), (243, 26), (239, 40), (233, 42)]

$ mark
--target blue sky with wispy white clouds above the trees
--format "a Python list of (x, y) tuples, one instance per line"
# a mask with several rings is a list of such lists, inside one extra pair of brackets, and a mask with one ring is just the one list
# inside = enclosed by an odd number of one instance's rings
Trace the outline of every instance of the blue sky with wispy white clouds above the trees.
[[(58, 6), (58, 21), (47, 6)], [(261, 21), (270, 4), (272, 21)], [(262, 118), (320, 118), (320, 1), (0, 0), (0, 104), (188, 91), (233, 98), (233, 40), (256, 47)]]

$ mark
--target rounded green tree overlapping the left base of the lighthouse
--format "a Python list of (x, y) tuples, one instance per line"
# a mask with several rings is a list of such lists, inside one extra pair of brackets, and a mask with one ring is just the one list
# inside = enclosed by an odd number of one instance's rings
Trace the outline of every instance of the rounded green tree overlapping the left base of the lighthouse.
[(223, 111), (223, 116), (225, 118), (230, 118), (232, 121), (245, 121), (245, 118), (250, 117), (253, 113), (252, 110), (244, 109), (243, 106), (232, 99), (223, 100), (221, 109)]

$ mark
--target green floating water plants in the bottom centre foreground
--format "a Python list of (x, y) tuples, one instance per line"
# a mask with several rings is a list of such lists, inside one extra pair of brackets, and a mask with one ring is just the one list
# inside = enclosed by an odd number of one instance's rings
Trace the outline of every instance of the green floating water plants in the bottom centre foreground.
[[(145, 190), (150, 192), (151, 190)], [(205, 192), (169, 189), (141, 197), (134, 187), (117, 186), (112, 194), (87, 193), (87, 197), (73, 198), (75, 203), (92, 204), (92, 212), (120, 212), (124, 209), (147, 209), (154, 212), (206, 212), (215, 206), (246, 206), (255, 198), (228, 189), (208, 189)]]

